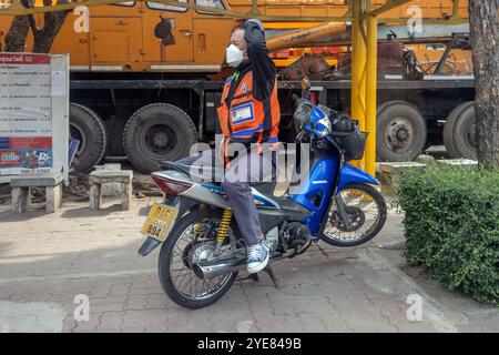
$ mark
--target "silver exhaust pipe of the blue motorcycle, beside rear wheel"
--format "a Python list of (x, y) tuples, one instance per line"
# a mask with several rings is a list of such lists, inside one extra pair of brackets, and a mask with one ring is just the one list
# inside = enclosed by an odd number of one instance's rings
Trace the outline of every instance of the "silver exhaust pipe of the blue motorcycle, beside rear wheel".
[[(275, 262), (284, 258), (282, 254), (271, 255), (271, 261)], [(202, 261), (193, 265), (194, 274), (200, 278), (211, 278), (230, 273), (246, 270), (247, 258), (244, 254), (238, 254), (225, 260)]]

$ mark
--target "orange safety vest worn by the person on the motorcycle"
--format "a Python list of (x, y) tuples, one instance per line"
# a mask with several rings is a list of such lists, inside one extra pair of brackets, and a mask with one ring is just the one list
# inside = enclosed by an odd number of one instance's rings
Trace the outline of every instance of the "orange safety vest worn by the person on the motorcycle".
[(253, 95), (253, 72), (248, 71), (241, 79), (237, 89), (231, 102), (227, 104), (226, 99), (231, 89), (233, 77), (230, 77), (224, 84), (222, 92), (221, 105), (217, 109), (220, 126), (224, 134), (224, 148), (220, 150), (224, 156), (220, 154), (220, 159), (228, 166), (227, 148), (231, 138), (249, 139), (257, 133), (256, 143), (258, 153), (262, 153), (262, 143), (269, 149), (274, 149), (277, 143), (278, 125), (281, 121), (281, 109), (277, 100), (277, 80), (266, 102), (255, 99)]

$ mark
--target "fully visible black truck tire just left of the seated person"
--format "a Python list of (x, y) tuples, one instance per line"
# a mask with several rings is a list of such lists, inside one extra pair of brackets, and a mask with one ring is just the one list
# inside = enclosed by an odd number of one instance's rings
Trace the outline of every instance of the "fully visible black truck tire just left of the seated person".
[(161, 161), (189, 155), (197, 142), (191, 118), (169, 103), (152, 103), (135, 111), (123, 131), (123, 148), (130, 162), (143, 173), (159, 169)]

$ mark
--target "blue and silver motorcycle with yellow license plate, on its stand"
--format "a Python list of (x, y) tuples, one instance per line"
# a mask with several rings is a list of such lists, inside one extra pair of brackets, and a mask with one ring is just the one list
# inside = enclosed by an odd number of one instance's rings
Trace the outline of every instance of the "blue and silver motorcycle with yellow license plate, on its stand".
[[(347, 163), (363, 156), (367, 133), (348, 116), (313, 104), (307, 90), (294, 100), (296, 141), (310, 148), (309, 175), (281, 196), (274, 194), (275, 181), (252, 186), (272, 245), (265, 271), (274, 283), (273, 263), (303, 254), (319, 241), (336, 246), (366, 243), (383, 229), (387, 214), (383, 195), (371, 186), (378, 181)], [(207, 306), (246, 268), (240, 234), (244, 226), (232, 217), (221, 185), (196, 182), (191, 166), (164, 162), (151, 176), (165, 199), (151, 207), (139, 254), (145, 256), (161, 245), (159, 273), (167, 296), (183, 307)]]

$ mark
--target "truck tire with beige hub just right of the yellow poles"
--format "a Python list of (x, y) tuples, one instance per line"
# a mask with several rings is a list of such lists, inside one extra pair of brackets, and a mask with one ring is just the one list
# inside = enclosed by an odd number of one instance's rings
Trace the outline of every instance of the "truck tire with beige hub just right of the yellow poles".
[(380, 162), (415, 160), (426, 142), (426, 122), (405, 101), (389, 101), (377, 110), (376, 158)]

